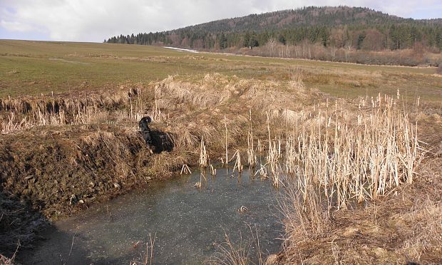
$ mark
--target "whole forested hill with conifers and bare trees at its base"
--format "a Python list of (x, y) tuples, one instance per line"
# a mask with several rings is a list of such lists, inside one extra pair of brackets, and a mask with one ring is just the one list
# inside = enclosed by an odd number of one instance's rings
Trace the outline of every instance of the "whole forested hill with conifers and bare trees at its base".
[(359, 7), (310, 6), (223, 19), (172, 31), (114, 36), (105, 42), (230, 49), (230, 52), (265, 46), (254, 53), (246, 53), (333, 61), (349, 61), (354, 51), (413, 49), (416, 53), (413, 56), (419, 58), (424, 51), (440, 53), (442, 50), (442, 19), (404, 19)]

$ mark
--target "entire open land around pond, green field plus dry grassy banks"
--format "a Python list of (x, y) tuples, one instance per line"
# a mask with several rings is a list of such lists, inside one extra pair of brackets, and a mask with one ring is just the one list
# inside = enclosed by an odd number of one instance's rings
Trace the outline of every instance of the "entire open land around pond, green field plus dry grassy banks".
[[(436, 68), (109, 43), (0, 48), (1, 196), (17, 209), (62, 219), (231, 161), (281, 191), (286, 237), (271, 264), (441, 261)], [(152, 155), (138, 134), (143, 115), (161, 142)], [(14, 224), (5, 202), (0, 242), (11, 256), (16, 239), (34, 240), (37, 217)], [(218, 260), (250, 263), (232, 244)]]

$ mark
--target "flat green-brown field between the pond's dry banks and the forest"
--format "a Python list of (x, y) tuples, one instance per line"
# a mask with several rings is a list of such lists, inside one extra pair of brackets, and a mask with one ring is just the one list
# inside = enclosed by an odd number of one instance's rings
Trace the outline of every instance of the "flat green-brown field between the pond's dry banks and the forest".
[(198, 80), (215, 72), (260, 80), (302, 78), (307, 86), (339, 97), (396, 94), (399, 88), (408, 98), (442, 100), (442, 77), (434, 74), (436, 68), (187, 53), (110, 43), (0, 41), (0, 98), (101, 90), (173, 75)]

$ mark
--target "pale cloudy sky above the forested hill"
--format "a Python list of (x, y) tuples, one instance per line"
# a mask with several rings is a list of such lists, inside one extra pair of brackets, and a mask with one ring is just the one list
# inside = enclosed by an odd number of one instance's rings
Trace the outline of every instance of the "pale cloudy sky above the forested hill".
[[(387, 3), (387, 4), (385, 4)], [(302, 6), (365, 6), (413, 19), (442, 17), (441, 0), (0, 0), (0, 39), (103, 41)]]

